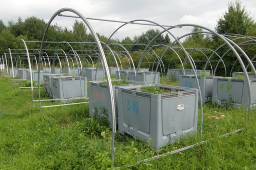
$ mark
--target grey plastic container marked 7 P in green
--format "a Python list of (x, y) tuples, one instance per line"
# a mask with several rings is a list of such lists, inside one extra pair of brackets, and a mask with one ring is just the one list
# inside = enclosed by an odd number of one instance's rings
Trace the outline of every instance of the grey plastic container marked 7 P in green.
[[(256, 80), (250, 80), (249, 83), (252, 95), (249, 105), (251, 108), (255, 108)], [(232, 77), (213, 78), (212, 103), (221, 105), (225, 102), (234, 108), (248, 104), (248, 88), (245, 79), (234, 79)]]

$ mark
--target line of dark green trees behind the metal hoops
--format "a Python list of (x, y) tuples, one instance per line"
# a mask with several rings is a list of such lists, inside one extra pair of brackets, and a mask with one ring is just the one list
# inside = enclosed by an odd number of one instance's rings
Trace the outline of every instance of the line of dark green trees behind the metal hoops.
[[(17, 48), (17, 42), (21, 38), (30, 41), (41, 41), (46, 25), (47, 23), (43, 19), (39, 19), (35, 16), (28, 17), (24, 21), (19, 17), (16, 22), (12, 20), (9, 21), (8, 25), (5, 25), (3, 20), (0, 19), (0, 54), (2, 55), (4, 52), (7, 52), (8, 48)], [(214, 50), (223, 44), (223, 41), (217, 37), (199, 33), (202, 31), (203, 30), (201, 28), (194, 27), (191, 30), (191, 32), (194, 33), (186, 36), (185, 40), (182, 41), (182, 45), (186, 47), (188, 53), (193, 57), (194, 60), (198, 61), (196, 62), (197, 69), (202, 69), (205, 63), (203, 60), (206, 60), (207, 56), (212, 55), (213, 51), (210, 49)], [(215, 26), (215, 31), (219, 34), (226, 34), (228, 38), (233, 39), (233, 41), (238, 44), (242, 44), (244, 39), (237, 38), (237, 35), (246, 37), (256, 36), (256, 23), (250, 16), (250, 13), (245, 9), (245, 6), (242, 6), (240, 1), (229, 2), (228, 10), (225, 11), (223, 16), (218, 19), (217, 25)], [(148, 53), (153, 52), (155, 55), (161, 56), (166, 46), (172, 43), (169, 35), (166, 32), (155, 38), (155, 36), (159, 33), (159, 29), (149, 29), (146, 32), (143, 32), (141, 35), (134, 36), (133, 39), (127, 36), (122, 40), (108, 40), (108, 37), (104, 35), (100, 35), (99, 33), (97, 33), (97, 35), (102, 42), (118, 43), (123, 44), (124, 46), (126, 45), (125, 47), (131, 52), (135, 64), (138, 64), (141, 53), (146, 47), (146, 45), (142, 44), (148, 44), (154, 38), (151, 43), (152, 48), (148, 50)], [(84, 25), (84, 23), (78, 20), (74, 21), (72, 29), (67, 29), (66, 27), (63, 28), (57, 24), (51, 25), (45, 39), (47, 41), (55, 42), (60, 42), (63, 40), (67, 42), (77, 42), (72, 44), (72, 47), (76, 50), (85, 50), (88, 45), (84, 44), (83, 42), (94, 41), (93, 36), (87, 31), (87, 27)], [(181, 48), (179, 48), (178, 43), (173, 45), (177, 47), (175, 51), (168, 50), (163, 58), (165, 69), (181, 67), (179, 58), (175, 57), (177, 53), (183, 59), (186, 57)], [(250, 58), (252, 58), (256, 53), (253, 45), (254, 44), (241, 45), (241, 48), (246, 51)], [(40, 49), (40, 43), (31, 43), (30, 47)], [(46, 44), (44, 47), (47, 49), (54, 48), (51, 43)], [(59, 48), (68, 50), (68, 47), (65, 44), (59, 44)], [(111, 49), (116, 51), (122, 50), (120, 46), (111, 46)], [(230, 71), (232, 67), (234, 67), (232, 68), (233, 71), (240, 69), (239, 65), (233, 66), (236, 58), (231, 51), (228, 51), (228, 49), (229, 47), (227, 45), (223, 45), (223, 47), (218, 49), (218, 55), (216, 54), (212, 57), (212, 60), (219, 60), (220, 56), (225, 55), (225, 57), (223, 57), (225, 66), (221, 64), (219, 65), (217, 71), (219, 74), (224, 73), (225, 67), (227, 67), (228, 71)], [(150, 61), (156, 60), (156, 56), (154, 54), (147, 56), (149, 63)], [(124, 54), (122, 53), (122, 55)], [(149, 63), (145, 62), (141, 65), (141, 67), (152, 67), (154, 64), (150, 63), (149, 65)], [(186, 62), (185, 66), (189, 68), (190, 64)]]

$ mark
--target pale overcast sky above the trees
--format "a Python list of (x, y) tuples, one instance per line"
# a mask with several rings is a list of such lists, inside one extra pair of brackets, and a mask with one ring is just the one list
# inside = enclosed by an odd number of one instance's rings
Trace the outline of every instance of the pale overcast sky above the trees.
[[(214, 29), (217, 20), (227, 11), (228, 3), (231, 1), (234, 2), (234, 0), (0, 0), (0, 19), (6, 25), (10, 20), (16, 22), (19, 16), (22, 20), (36, 16), (48, 22), (57, 10), (68, 7), (88, 18), (117, 21), (145, 19), (162, 25), (192, 23)], [(256, 0), (240, 1), (255, 20)], [(71, 29), (74, 19), (57, 16), (54, 23)], [(88, 21), (96, 32), (107, 37), (122, 24), (91, 19)], [(140, 21), (140, 23), (148, 22)], [(113, 37), (121, 40), (130, 36), (133, 39), (135, 35), (140, 35), (150, 28), (162, 30), (157, 26), (129, 24), (120, 28)], [(192, 28), (188, 26), (174, 28), (172, 33), (178, 37), (191, 31)]]

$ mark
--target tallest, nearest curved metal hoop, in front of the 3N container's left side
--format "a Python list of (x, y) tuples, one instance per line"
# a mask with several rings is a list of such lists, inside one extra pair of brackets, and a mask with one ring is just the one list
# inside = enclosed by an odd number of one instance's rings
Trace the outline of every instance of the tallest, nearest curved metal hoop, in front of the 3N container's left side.
[[(44, 35), (43, 35), (43, 38), (42, 38), (42, 43), (41, 43), (41, 47), (40, 47), (40, 55), (39, 57), (41, 57), (41, 53), (42, 53), (42, 49), (43, 49), (43, 44), (44, 44), (44, 39), (45, 39), (45, 35), (46, 35), (46, 32), (52, 22), (52, 20), (61, 12), (63, 11), (70, 11), (70, 12), (73, 12), (75, 14), (77, 14), (84, 22), (85, 24), (87, 25), (87, 27), (89, 28), (95, 42), (96, 42), (96, 45), (98, 47), (98, 50), (100, 52), (100, 55), (101, 55), (101, 58), (102, 58), (102, 61), (103, 61), (103, 66), (105, 67), (105, 72), (106, 72), (106, 77), (107, 77), (107, 82), (108, 82), (108, 88), (109, 88), (109, 94), (110, 94), (110, 103), (111, 103), (111, 111), (112, 111), (112, 149), (111, 149), (111, 159), (112, 159), (112, 167), (114, 166), (114, 133), (116, 132), (116, 127), (115, 127), (115, 109), (114, 109), (114, 96), (113, 96), (113, 89), (112, 89), (112, 84), (111, 84), (111, 79), (110, 79), (110, 74), (109, 74), (109, 70), (108, 70), (108, 66), (107, 66), (107, 62), (106, 62), (106, 57), (104, 55), (104, 51), (103, 51), (103, 48), (100, 44), (100, 41), (99, 41), (99, 38), (97, 36), (97, 34), (95, 33), (95, 31), (93, 30), (93, 28), (91, 27), (91, 25), (89, 24), (89, 22), (87, 21), (87, 19), (78, 11), (74, 10), (74, 9), (71, 9), (71, 8), (62, 8), (62, 9), (59, 9), (57, 12), (54, 13), (54, 15), (51, 17), (51, 19), (49, 20), (47, 26), (46, 26), (46, 29), (45, 29), (45, 32), (44, 32)], [(39, 77), (38, 77), (39, 78)], [(40, 90), (39, 90), (39, 97), (40, 97)], [(39, 103), (40, 103), (40, 107), (41, 107), (41, 102), (39, 100)]]

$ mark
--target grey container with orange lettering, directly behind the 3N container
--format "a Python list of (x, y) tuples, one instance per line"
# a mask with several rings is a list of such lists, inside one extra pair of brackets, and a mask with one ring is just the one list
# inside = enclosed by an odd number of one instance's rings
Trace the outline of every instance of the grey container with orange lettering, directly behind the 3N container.
[[(118, 80), (112, 80), (112, 82), (113, 81), (118, 81)], [(108, 120), (112, 124), (112, 113), (111, 111), (109, 111), (111, 110), (109, 88), (107, 84), (103, 84), (102, 82), (104, 81), (103, 80), (89, 81), (89, 101), (90, 101), (89, 113), (90, 113), (90, 116), (92, 116), (95, 112), (95, 108), (97, 108), (97, 110), (100, 111), (102, 107), (104, 107), (106, 109), (106, 114), (108, 115)], [(128, 80), (128, 82), (130, 83), (121, 84), (121, 85), (112, 85), (116, 115), (118, 115), (118, 109), (117, 109), (118, 87), (145, 84), (145, 82), (139, 82), (139, 81)], [(117, 118), (116, 118), (116, 124), (117, 124)]]

